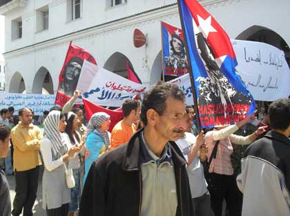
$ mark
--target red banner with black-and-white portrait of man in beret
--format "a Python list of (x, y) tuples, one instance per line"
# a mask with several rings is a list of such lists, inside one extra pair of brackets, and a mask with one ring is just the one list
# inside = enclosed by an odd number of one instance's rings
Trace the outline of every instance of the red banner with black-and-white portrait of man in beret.
[(97, 65), (95, 58), (89, 52), (77, 45), (72, 45), (70, 42), (64, 65), (59, 74), (59, 87), (55, 98), (56, 105), (63, 107), (73, 96), (85, 59)]

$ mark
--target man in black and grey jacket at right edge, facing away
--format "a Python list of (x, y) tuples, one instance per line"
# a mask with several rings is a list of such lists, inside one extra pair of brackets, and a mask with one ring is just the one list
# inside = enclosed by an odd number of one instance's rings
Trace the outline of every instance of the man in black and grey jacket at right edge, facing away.
[(273, 102), (269, 118), (272, 130), (242, 158), (242, 216), (290, 215), (290, 99)]

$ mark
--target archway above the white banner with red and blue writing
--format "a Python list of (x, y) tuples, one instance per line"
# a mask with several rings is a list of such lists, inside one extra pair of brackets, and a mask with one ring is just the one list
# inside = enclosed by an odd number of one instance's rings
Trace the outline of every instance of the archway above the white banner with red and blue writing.
[(119, 76), (128, 78), (127, 65), (126, 65), (127, 61), (131, 65), (131, 68), (133, 68), (131, 62), (124, 54), (120, 52), (115, 52), (106, 61), (104, 65), (104, 69), (108, 69), (108, 71), (110, 72), (114, 72), (115, 74), (118, 74)]

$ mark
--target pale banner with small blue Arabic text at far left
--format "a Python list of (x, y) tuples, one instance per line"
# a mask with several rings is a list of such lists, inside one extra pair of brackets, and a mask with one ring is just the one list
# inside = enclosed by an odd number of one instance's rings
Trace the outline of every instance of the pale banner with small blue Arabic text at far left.
[(14, 107), (14, 114), (26, 107), (32, 109), (35, 116), (42, 116), (55, 105), (55, 94), (13, 94), (0, 93), (0, 109)]

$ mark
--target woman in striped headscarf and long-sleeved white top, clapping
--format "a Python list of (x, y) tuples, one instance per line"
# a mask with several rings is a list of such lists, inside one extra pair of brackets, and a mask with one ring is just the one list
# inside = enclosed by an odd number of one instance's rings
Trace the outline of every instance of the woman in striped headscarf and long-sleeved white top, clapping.
[(66, 184), (64, 163), (80, 148), (69, 148), (66, 144), (62, 134), (66, 129), (66, 118), (60, 111), (51, 111), (43, 125), (46, 136), (40, 143), (45, 167), (42, 178), (42, 205), (48, 216), (67, 216), (70, 188)]

